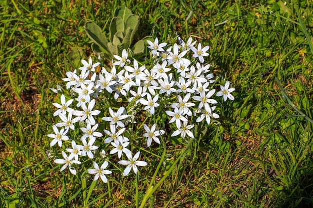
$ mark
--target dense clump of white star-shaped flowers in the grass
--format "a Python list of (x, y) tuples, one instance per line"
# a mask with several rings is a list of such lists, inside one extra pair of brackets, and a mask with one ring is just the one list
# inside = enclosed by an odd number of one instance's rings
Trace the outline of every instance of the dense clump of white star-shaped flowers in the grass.
[[(210, 65), (204, 63), (208, 46), (198, 43), (195, 47), (191, 37), (186, 43), (178, 38), (167, 48), (167, 43), (158, 43), (157, 38), (147, 44), (151, 51), (144, 62), (129, 58), (125, 49), (121, 57), (114, 55), (110, 68), (92, 64), (90, 57), (88, 62), (81, 60), (83, 66), (78, 70), (66, 73), (67, 93), (60, 87), (53, 89), (63, 93), (60, 103), (52, 103), (59, 122), (52, 127), (54, 134), (47, 136), (52, 138), (51, 147), (57, 144), (62, 148), (63, 159), (54, 160), (64, 164), (60, 171), (68, 167), (75, 175), (79, 164), (90, 159), (87, 172), (94, 180), (100, 177), (107, 182), (105, 175), (112, 173), (106, 170), (108, 161), (126, 166), (123, 176), (131, 169), (137, 174), (137, 166), (147, 165), (138, 160), (138, 144), (145, 141), (148, 148), (164, 141), (165, 135), (194, 138), (196, 122), (205, 119), (209, 125), (219, 118), (215, 97), (234, 100), (230, 94), (234, 88), (229, 88), (228, 81), (215, 93), (216, 79)], [(160, 116), (165, 119), (156, 123)], [(164, 122), (169, 128), (162, 126)]]

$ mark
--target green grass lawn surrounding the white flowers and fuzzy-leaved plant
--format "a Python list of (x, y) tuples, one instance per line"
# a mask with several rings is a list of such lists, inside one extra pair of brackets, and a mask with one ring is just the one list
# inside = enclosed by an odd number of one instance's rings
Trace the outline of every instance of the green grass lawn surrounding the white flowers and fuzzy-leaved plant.
[[(63, 85), (77, 49), (92, 55), (84, 22), (108, 31), (118, 5), (140, 16), (138, 39), (177, 32), (208, 44), (235, 102), (188, 148), (156, 149), (164, 165), (155, 157), (138, 178), (91, 183), (47, 157), (56, 99), (49, 88)], [(286, 100), (312, 118), (308, 1), (3, 0), (0, 8), (0, 207), (312, 207), (312, 123)]]

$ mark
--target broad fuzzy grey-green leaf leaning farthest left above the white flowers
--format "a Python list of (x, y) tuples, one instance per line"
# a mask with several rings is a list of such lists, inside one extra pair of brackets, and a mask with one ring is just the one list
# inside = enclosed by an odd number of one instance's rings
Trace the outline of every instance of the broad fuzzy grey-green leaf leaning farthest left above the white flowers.
[(101, 28), (93, 21), (87, 21), (84, 24), (84, 30), (88, 37), (98, 46), (109, 52), (107, 39), (105, 33), (102, 32)]

